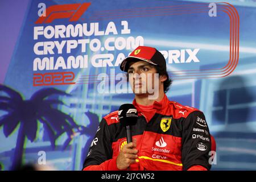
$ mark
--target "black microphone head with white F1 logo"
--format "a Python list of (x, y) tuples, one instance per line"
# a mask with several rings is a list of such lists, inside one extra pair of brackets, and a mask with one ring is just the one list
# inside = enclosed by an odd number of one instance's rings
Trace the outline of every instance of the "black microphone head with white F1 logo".
[(137, 123), (137, 109), (132, 104), (123, 104), (118, 110), (119, 122), (123, 127), (132, 126)]

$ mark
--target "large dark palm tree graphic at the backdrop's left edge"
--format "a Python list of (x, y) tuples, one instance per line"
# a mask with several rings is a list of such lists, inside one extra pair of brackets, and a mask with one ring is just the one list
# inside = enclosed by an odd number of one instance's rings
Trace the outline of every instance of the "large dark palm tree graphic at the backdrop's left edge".
[(77, 128), (72, 117), (53, 107), (53, 105), (64, 105), (64, 102), (48, 98), (52, 95), (70, 96), (61, 90), (40, 89), (31, 96), (30, 100), (24, 100), (19, 92), (0, 84), (0, 93), (5, 93), (0, 95), (0, 110), (7, 113), (0, 117), (0, 127), (3, 126), (5, 137), (9, 137), (20, 124), (11, 169), (22, 165), (25, 139), (31, 142), (36, 139), (38, 122), (43, 123), (53, 148), (61, 134), (66, 132), (70, 137), (74, 133), (73, 129)]

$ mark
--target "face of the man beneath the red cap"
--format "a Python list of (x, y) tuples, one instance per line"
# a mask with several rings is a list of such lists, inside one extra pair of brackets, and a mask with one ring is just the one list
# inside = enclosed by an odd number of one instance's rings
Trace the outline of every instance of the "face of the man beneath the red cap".
[(127, 73), (135, 95), (152, 94), (152, 90), (159, 90), (160, 82), (154, 65), (146, 61), (131, 62)]

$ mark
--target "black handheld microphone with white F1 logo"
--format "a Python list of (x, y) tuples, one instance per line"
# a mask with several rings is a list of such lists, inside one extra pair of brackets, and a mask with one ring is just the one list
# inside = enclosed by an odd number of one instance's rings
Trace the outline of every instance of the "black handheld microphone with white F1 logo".
[(121, 126), (126, 127), (127, 143), (133, 142), (131, 136), (131, 126), (137, 123), (137, 109), (132, 104), (123, 104), (119, 107), (118, 118)]

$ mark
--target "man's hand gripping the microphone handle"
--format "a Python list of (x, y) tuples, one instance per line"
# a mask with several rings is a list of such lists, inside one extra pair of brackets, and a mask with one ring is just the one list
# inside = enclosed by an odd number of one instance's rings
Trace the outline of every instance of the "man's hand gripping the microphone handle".
[(135, 149), (136, 147), (136, 139), (133, 142), (130, 142), (123, 146), (122, 150), (120, 151), (119, 155), (117, 156), (117, 168), (127, 169), (130, 164), (135, 163), (138, 158), (138, 150)]

